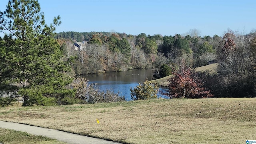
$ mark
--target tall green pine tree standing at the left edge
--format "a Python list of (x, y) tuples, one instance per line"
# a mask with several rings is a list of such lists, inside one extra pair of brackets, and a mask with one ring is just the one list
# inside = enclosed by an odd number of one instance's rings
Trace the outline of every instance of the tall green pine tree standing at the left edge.
[[(0, 82), (12, 86), (30, 104), (69, 104), (73, 90), (66, 74), (70, 60), (64, 62), (63, 52), (54, 39), (60, 16), (47, 26), (37, 0), (9, 0), (0, 11), (1, 32), (9, 32), (0, 40)], [(4, 86), (3, 86), (4, 87)]]

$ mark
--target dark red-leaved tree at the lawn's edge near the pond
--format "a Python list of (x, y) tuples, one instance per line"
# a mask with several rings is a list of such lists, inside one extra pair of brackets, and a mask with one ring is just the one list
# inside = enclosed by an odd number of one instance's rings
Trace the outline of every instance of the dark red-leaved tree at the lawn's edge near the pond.
[(174, 77), (170, 78), (168, 90), (164, 94), (170, 98), (210, 98), (213, 95), (206, 90), (202, 82), (195, 76), (190, 68), (185, 66), (176, 70)]

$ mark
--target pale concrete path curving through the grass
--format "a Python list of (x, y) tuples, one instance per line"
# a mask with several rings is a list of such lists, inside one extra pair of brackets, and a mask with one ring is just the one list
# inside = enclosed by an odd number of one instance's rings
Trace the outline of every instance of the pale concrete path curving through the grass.
[(112, 141), (102, 140), (99, 138), (91, 138), (88, 136), (81, 136), (78, 134), (72, 134), (69, 132), (62, 132), (59, 130), (52, 130), (48, 128), (40, 128), (37, 126), (29, 126), (26, 124), (18, 124), (14, 122), (0, 121), (0, 128), (7, 128), (11, 130), (23, 131), (29, 134), (47, 136), (49, 138), (55, 138), (68, 144), (119, 144)]

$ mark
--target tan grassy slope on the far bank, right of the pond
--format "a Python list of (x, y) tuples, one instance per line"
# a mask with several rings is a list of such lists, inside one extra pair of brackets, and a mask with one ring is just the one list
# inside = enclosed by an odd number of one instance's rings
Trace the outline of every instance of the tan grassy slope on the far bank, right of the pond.
[[(201, 66), (201, 67), (198, 67), (198, 68), (195, 68), (195, 71), (205, 71), (205, 70), (208, 70), (212, 73), (215, 73), (216, 72), (216, 69), (217, 69), (217, 64), (210, 64), (210, 65), (207, 65), (207, 66)], [(170, 76), (166, 76), (164, 78), (159, 78), (159, 79), (156, 79), (156, 80), (151, 80), (150, 82), (152, 82), (153, 84), (157, 84), (159, 86), (167, 86), (168, 85), (168, 79), (171, 78), (173, 75), (170, 75)]]

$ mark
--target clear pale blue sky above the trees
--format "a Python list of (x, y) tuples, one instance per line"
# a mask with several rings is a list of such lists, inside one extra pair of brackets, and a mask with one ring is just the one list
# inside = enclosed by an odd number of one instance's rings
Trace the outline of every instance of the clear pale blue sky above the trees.
[[(60, 15), (56, 32), (125, 32), (174, 36), (198, 29), (223, 36), (228, 28), (256, 29), (256, 0), (38, 0), (46, 23)], [(0, 0), (0, 10), (8, 0)]]

